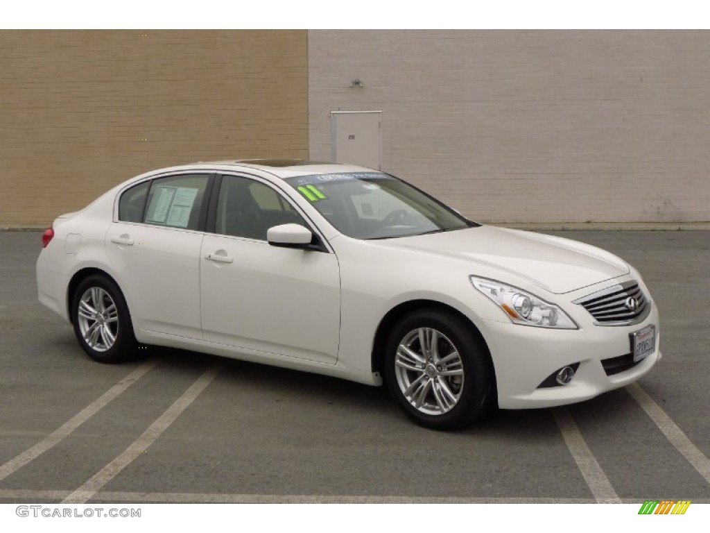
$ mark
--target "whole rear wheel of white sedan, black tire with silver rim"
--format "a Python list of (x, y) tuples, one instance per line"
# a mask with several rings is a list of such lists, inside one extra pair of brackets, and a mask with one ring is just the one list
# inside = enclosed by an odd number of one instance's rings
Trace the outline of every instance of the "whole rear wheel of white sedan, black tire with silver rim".
[(72, 296), (71, 313), (77, 340), (94, 361), (116, 363), (136, 354), (128, 306), (107, 276), (92, 274), (80, 282)]

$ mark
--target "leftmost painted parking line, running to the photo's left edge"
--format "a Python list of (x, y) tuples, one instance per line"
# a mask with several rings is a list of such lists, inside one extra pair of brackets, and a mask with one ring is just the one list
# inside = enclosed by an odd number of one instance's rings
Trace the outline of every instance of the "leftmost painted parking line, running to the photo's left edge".
[(72, 431), (84, 424), (85, 421), (94, 416), (94, 414), (97, 414), (97, 412), (101, 411), (101, 409), (104, 409), (104, 407), (106, 407), (111, 400), (115, 399), (119, 396), (119, 394), (131, 387), (133, 383), (137, 382), (138, 379), (141, 379), (141, 377), (150, 372), (156, 364), (157, 362), (155, 361), (144, 362), (143, 365), (136, 368), (136, 370), (133, 370), (133, 372), (124, 377), (124, 379), (121, 379), (121, 381), (107, 390), (107, 392), (104, 392), (104, 394), (102, 394), (99, 398), (95, 399), (94, 402), (87, 405), (87, 407), (84, 407), (79, 414), (72, 416), (72, 418), (60, 426), (59, 429), (56, 429), (31, 448), (28, 448), (26, 451), (23, 451), (15, 458), (12, 458), (10, 461), (0, 466), (0, 480), (3, 480), (11, 473), (16, 472), (16, 470), (19, 470), (33, 459), (38, 458), (40, 455), (45, 453), (45, 451), (48, 451), (50, 448), (67, 438), (67, 436), (72, 434)]

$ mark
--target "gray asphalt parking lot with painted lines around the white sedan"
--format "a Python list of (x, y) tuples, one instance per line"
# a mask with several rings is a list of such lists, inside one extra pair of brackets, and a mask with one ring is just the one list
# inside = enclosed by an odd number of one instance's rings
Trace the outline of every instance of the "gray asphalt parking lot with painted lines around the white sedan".
[(710, 502), (710, 232), (550, 232), (644, 276), (663, 359), (565, 408), (440, 433), (385, 389), (147, 348), (99, 365), (0, 232), (0, 502)]

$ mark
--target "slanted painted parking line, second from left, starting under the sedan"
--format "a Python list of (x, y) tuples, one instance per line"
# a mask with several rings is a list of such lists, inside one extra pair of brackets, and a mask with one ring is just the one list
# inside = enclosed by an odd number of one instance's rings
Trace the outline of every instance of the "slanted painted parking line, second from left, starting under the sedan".
[(131, 446), (126, 448), (126, 450), (111, 461), (111, 463), (94, 474), (84, 485), (65, 497), (62, 503), (84, 503), (91, 499), (104, 485), (115, 478), (121, 470), (126, 468), (126, 466), (131, 464), (141, 453), (146, 451), (148, 446), (151, 446), (151, 444), (163, 434), (163, 431), (168, 429), (170, 424), (173, 424), (182, 411), (190, 407), (190, 404), (195, 401), (195, 398), (200, 395), (200, 392), (217, 377), (223, 368), (224, 365), (220, 364), (212, 365), (205, 370), (204, 374), (197, 378), (197, 381), (190, 385), (190, 388), (183, 392), (182, 396), (175, 400), (175, 403), (168, 407), (168, 410), (161, 414)]

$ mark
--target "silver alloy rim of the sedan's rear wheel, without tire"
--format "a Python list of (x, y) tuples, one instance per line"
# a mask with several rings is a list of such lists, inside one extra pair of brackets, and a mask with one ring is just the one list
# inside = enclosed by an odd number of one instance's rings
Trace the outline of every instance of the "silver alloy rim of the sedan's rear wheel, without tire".
[(119, 333), (119, 313), (116, 303), (101, 287), (90, 287), (79, 301), (79, 330), (92, 350), (111, 349)]

